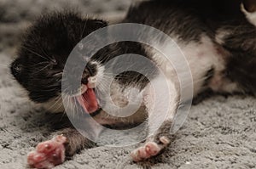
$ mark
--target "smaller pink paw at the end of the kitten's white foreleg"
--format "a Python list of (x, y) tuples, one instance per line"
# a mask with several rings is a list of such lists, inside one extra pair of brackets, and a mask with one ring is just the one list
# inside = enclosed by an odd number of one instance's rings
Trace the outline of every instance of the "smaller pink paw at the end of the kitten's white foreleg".
[(147, 142), (143, 147), (135, 149), (131, 152), (133, 161), (144, 161), (155, 155), (159, 155), (162, 149), (165, 149), (170, 144), (170, 139), (163, 136), (159, 138), (159, 144), (155, 142)]

